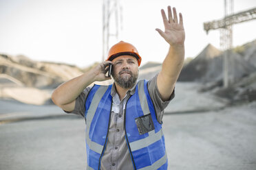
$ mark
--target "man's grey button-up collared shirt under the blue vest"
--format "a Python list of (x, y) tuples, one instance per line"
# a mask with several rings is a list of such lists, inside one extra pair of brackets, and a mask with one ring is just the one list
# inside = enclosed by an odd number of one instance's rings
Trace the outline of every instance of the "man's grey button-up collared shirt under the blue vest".
[[(153, 101), (158, 116), (158, 121), (162, 121), (164, 108), (167, 107), (171, 99), (174, 97), (173, 93), (168, 101), (162, 101), (157, 87), (157, 75), (149, 80), (148, 88), (149, 95)], [(85, 99), (89, 93), (90, 88), (85, 88), (81, 95), (76, 98), (76, 106), (71, 113), (78, 114), (84, 117), (85, 113)], [(124, 127), (124, 110), (127, 99), (134, 95), (136, 85), (127, 91), (125, 97), (120, 101), (116, 87), (112, 86), (111, 96), (113, 97), (113, 104), (111, 110), (111, 119), (109, 125), (109, 134), (107, 138), (107, 146), (100, 162), (100, 169), (134, 169), (127, 142), (125, 140)], [(127, 115), (129, 117), (129, 115)]]

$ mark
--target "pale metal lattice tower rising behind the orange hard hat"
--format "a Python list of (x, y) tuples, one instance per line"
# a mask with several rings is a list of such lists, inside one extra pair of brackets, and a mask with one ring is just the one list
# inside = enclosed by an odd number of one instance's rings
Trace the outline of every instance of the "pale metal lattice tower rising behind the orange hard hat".
[(103, 0), (103, 61), (111, 38), (118, 40), (122, 29), (122, 6), (119, 0)]

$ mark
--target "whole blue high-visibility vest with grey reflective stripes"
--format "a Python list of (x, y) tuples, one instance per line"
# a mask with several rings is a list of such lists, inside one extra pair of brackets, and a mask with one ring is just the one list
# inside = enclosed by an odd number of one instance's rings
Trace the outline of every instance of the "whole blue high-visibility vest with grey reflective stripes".
[[(87, 169), (100, 169), (107, 145), (112, 106), (111, 87), (94, 85), (85, 101)], [(140, 80), (125, 106), (125, 138), (134, 169), (167, 169), (167, 153), (147, 81)]]

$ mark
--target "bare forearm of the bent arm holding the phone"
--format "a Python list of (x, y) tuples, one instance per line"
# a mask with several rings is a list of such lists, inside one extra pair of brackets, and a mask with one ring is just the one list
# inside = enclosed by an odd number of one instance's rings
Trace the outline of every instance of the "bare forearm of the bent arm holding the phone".
[(78, 95), (80, 95), (83, 89), (94, 82), (94, 76), (94, 72), (91, 70), (61, 84), (52, 93), (52, 101), (60, 107), (70, 104), (76, 97), (78, 97)]

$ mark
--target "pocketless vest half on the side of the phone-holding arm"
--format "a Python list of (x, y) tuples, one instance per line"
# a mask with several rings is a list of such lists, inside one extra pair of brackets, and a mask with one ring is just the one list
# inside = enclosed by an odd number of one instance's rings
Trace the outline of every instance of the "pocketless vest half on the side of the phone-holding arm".
[(108, 123), (101, 122), (109, 122), (110, 91), (111, 86), (94, 85), (85, 102), (87, 169), (99, 169), (100, 167), (100, 158), (108, 132)]

